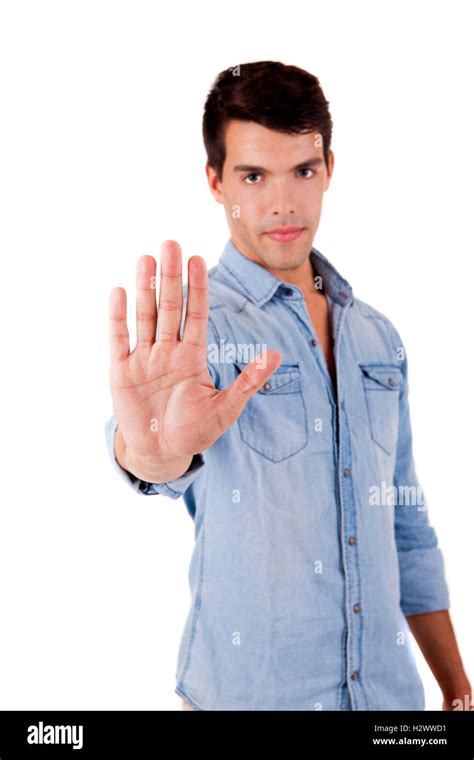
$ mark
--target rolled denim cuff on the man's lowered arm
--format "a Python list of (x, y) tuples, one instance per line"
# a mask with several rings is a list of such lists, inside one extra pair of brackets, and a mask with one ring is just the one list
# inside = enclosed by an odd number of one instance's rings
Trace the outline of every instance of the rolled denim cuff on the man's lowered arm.
[(398, 552), (400, 606), (404, 615), (446, 610), (450, 606), (444, 560), (438, 547)]

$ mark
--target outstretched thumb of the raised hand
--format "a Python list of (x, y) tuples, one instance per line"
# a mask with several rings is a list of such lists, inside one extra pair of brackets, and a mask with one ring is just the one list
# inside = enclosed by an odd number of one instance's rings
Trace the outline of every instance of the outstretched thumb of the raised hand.
[(267, 382), (280, 366), (282, 359), (279, 351), (264, 351), (245, 367), (233, 383), (216, 396), (216, 403), (220, 405), (222, 432), (240, 416), (247, 401)]

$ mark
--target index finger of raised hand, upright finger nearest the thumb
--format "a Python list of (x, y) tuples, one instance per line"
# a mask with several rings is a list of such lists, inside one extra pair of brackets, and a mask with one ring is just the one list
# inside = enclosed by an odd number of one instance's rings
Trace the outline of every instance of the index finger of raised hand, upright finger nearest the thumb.
[(209, 313), (206, 262), (201, 256), (188, 261), (188, 294), (183, 341), (206, 351), (207, 319)]

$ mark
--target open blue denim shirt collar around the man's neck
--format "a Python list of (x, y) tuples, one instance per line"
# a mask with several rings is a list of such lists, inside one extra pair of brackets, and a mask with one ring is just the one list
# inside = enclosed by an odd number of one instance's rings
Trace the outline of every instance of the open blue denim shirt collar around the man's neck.
[[(310, 256), (314, 273), (321, 276), (323, 288), (328, 296), (341, 306), (350, 304), (353, 295), (352, 288), (347, 280), (316, 248), (311, 248)], [(260, 264), (241, 253), (235, 247), (232, 238), (229, 238), (225, 244), (218, 266), (223, 267), (231, 275), (234, 287), (257, 306), (263, 306), (269, 301), (278, 288), (281, 288), (283, 292), (290, 288), (293, 292), (299, 293), (300, 297), (303, 297), (300, 288), (296, 285), (285, 284), (268, 269), (264, 269)]]

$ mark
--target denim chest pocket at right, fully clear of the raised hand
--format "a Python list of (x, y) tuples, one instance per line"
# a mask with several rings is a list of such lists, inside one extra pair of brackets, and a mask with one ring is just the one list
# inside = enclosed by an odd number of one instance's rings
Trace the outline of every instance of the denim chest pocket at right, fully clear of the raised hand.
[(393, 364), (360, 364), (372, 439), (391, 454), (398, 439), (398, 408), (403, 374)]

